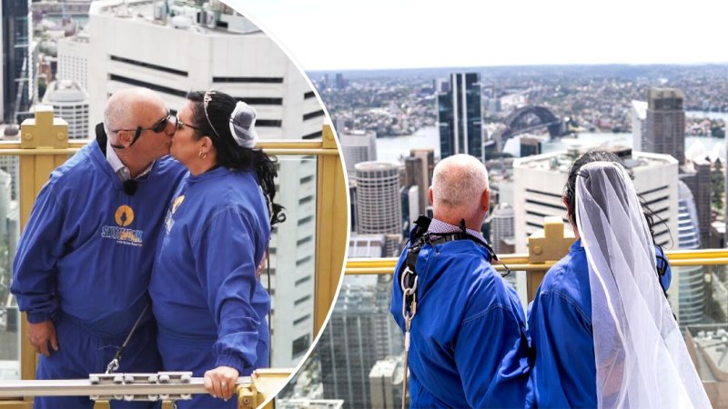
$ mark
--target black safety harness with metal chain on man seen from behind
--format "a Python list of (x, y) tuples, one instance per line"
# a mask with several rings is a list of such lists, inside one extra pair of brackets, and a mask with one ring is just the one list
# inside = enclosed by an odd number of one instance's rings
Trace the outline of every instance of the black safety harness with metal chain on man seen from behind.
[(403, 265), (403, 269), (399, 275), (399, 288), (402, 291), (402, 318), (404, 319), (405, 333), (404, 333), (404, 376), (405, 380), (402, 382), (402, 409), (405, 409), (405, 396), (407, 395), (407, 366), (408, 358), (410, 354), (410, 328), (412, 326), (412, 319), (417, 314), (417, 257), (420, 256), (420, 250), (425, 245), (430, 245), (437, 249), (436, 245), (453, 242), (456, 240), (470, 240), (480, 247), (485, 248), (488, 254), (488, 262), (493, 261), (499, 262), (505, 267), (505, 273), (501, 274), (501, 277), (505, 277), (511, 274), (511, 269), (506, 264), (503, 264), (498, 256), (493, 251), (492, 247), (478, 237), (469, 234), (468, 229), (465, 227), (465, 220), (460, 219), (460, 231), (452, 233), (432, 233), (429, 232), (430, 217), (420, 215), (417, 221), (415, 221), (415, 231), (410, 238), (410, 248), (407, 250), (407, 258)]

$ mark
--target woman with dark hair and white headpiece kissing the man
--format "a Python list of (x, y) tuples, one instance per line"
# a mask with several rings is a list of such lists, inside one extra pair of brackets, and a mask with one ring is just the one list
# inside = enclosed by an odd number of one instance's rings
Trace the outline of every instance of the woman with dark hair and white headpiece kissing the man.
[(177, 114), (171, 155), (189, 174), (169, 205), (149, 294), (165, 370), (204, 375), (212, 394), (179, 408), (237, 407), (228, 398), (238, 376), (268, 366), (270, 300), (257, 267), (284, 217), (254, 124), (253, 108), (214, 91), (188, 94)]

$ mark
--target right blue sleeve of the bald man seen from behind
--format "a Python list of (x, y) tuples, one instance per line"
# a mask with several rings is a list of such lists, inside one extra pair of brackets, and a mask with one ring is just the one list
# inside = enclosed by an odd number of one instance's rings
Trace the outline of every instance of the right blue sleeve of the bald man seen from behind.
[(455, 364), (471, 407), (524, 406), (530, 363), (522, 315), (520, 304), (493, 304), (460, 324)]

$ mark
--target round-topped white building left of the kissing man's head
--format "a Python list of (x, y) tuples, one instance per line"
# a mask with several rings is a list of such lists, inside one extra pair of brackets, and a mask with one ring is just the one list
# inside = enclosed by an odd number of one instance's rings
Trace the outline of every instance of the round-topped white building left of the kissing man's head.
[(88, 134), (88, 95), (76, 81), (54, 81), (45, 90), (43, 104), (53, 105), (53, 115), (68, 123), (68, 139), (85, 139)]

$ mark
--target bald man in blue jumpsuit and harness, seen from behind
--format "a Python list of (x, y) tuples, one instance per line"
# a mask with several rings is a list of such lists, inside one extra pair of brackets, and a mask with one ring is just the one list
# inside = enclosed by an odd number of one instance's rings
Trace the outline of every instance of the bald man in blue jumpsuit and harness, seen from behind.
[[(411, 407), (523, 407), (530, 368), (525, 318), (518, 295), (490, 265), (480, 234), (490, 196), (485, 166), (470, 155), (443, 159), (429, 195), (433, 243), (422, 247), (415, 268)], [(467, 236), (438, 241), (463, 233), (461, 221)], [(395, 270), (391, 304), (403, 331), (399, 282), (410, 245)]]

